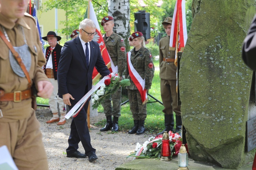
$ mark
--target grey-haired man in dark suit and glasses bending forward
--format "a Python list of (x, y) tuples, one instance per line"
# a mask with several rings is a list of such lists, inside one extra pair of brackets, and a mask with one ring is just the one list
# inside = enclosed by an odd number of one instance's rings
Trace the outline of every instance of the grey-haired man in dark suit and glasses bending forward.
[[(94, 22), (84, 19), (80, 22), (79, 33), (78, 37), (64, 44), (57, 72), (59, 97), (68, 105), (69, 109), (91, 89), (94, 66), (102, 76), (110, 74), (102, 59), (98, 43), (93, 41), (94, 35), (97, 34)], [(91, 146), (87, 127), (88, 103), (89, 100), (80, 113), (72, 119), (68, 139), (69, 147), (66, 151), (67, 157), (85, 158), (88, 156), (89, 162), (92, 162), (98, 157), (95, 154), (96, 150)], [(80, 141), (85, 154), (77, 151)]]

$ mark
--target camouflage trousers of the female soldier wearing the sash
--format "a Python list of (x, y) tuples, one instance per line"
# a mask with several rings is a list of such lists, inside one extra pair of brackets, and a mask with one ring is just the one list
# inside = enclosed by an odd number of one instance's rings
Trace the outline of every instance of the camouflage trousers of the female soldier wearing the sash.
[(145, 120), (147, 117), (147, 103), (142, 105), (142, 100), (139, 90), (129, 90), (128, 98), (130, 103), (130, 110), (134, 120)]

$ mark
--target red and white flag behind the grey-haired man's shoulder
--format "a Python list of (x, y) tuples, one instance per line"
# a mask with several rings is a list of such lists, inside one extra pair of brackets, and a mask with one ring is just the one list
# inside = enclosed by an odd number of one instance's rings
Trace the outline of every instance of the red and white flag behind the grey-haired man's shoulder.
[[(97, 35), (94, 36), (93, 40), (97, 41), (97, 43), (100, 46), (100, 52), (101, 55), (103, 57), (103, 60), (106, 64), (106, 66), (109, 68), (110, 72), (117, 72), (113, 61), (111, 60), (111, 57), (109, 55), (108, 50), (106, 49), (101, 31), (100, 31), (100, 25), (98, 22), (98, 19), (96, 17), (94, 8), (93, 8), (93, 4), (91, 3), (91, 0), (88, 1), (88, 7), (87, 7), (87, 17), (85, 15), (85, 18), (89, 18), (91, 20), (94, 21), (95, 25), (96, 25), (96, 32), (98, 33)], [(101, 77), (100, 73), (97, 71), (97, 69), (94, 67), (93, 70), (93, 84)]]

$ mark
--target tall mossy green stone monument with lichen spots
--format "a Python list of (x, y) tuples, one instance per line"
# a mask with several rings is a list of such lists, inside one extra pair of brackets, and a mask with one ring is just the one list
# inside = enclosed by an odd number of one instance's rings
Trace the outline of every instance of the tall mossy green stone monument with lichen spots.
[[(182, 121), (194, 160), (238, 169), (252, 162), (246, 122), (253, 71), (242, 43), (256, 13), (255, 0), (193, 0), (193, 22), (180, 62)], [(256, 63), (255, 63), (256, 64)]]

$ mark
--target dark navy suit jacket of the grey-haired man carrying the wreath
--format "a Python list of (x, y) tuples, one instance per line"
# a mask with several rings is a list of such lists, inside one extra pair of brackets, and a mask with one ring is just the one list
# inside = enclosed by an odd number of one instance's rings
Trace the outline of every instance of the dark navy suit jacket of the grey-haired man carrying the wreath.
[(94, 66), (102, 76), (110, 74), (96, 41), (90, 42), (90, 50), (90, 63), (87, 66), (79, 37), (64, 44), (57, 71), (60, 98), (69, 93), (78, 102), (91, 89)]

